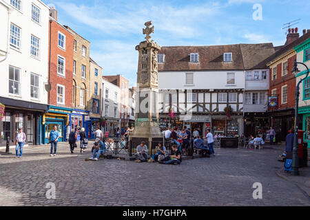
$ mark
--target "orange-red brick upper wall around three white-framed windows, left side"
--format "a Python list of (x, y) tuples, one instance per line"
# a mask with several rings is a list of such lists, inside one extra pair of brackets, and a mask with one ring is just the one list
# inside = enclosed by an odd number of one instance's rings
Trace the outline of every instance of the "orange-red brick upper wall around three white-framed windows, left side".
[[(50, 91), (49, 104), (72, 108), (72, 80), (73, 80), (73, 41), (74, 36), (61, 25), (52, 21), (51, 53), (50, 53)], [(50, 30), (50, 29), (49, 29)], [(65, 51), (58, 47), (58, 32), (65, 35)], [(50, 33), (49, 33), (50, 36)], [(49, 39), (50, 40), (50, 39)], [(49, 42), (50, 43), (50, 42)], [(49, 47), (50, 50), (50, 47)], [(57, 74), (57, 55), (65, 58), (65, 77)], [(57, 104), (57, 84), (65, 86), (65, 105)]]

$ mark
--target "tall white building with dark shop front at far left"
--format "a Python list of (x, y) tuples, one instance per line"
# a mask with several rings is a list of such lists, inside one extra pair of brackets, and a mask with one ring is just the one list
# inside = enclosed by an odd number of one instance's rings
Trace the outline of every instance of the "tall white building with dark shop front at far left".
[(27, 144), (40, 144), (43, 113), (48, 109), (49, 8), (39, 0), (0, 1), (0, 145), (14, 144), (19, 127)]

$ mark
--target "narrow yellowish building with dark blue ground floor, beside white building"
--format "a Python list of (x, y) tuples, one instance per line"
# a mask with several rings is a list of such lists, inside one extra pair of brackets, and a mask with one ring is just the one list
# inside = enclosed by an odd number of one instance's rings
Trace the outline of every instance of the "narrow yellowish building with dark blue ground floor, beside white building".
[(94, 138), (96, 128), (101, 126), (101, 94), (102, 94), (102, 67), (90, 58), (90, 100), (88, 100), (88, 111), (90, 115), (86, 120), (87, 136)]

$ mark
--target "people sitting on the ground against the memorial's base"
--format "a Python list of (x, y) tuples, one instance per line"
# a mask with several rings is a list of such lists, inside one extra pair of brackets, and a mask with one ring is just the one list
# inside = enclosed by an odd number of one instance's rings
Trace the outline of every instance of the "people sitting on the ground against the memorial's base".
[[(141, 142), (138, 146), (136, 146), (136, 163), (141, 162), (159, 162), (160, 164), (180, 164), (182, 162), (182, 155), (180, 150), (178, 149), (178, 146), (176, 144), (172, 145), (172, 152), (169, 155), (167, 152), (167, 149), (163, 144), (158, 143), (158, 146), (155, 148), (155, 154), (151, 155), (151, 157), (148, 159), (147, 156), (147, 146), (145, 145), (145, 142)], [(148, 160), (147, 160), (148, 159)]]

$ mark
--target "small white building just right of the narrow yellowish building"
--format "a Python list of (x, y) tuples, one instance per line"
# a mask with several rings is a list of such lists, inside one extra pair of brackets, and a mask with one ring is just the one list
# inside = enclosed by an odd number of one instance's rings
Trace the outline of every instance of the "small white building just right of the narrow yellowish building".
[(102, 78), (101, 117), (105, 118), (105, 131), (114, 136), (116, 129), (121, 128), (120, 107), (121, 88)]

